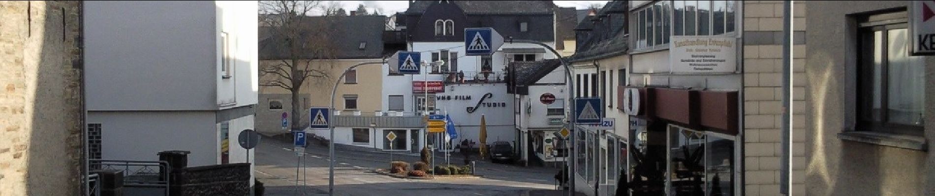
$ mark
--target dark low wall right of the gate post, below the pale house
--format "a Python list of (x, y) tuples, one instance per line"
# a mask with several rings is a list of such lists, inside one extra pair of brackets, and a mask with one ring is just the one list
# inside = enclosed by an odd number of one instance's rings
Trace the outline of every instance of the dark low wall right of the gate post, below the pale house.
[(182, 172), (181, 195), (249, 195), (250, 173), (250, 163), (187, 167)]

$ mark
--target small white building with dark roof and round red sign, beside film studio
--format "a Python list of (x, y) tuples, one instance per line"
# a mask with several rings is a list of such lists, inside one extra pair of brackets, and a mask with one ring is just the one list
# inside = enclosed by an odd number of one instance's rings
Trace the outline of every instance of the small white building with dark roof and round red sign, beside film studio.
[(511, 62), (507, 91), (513, 94), (519, 160), (527, 165), (560, 166), (568, 142), (555, 135), (567, 124), (568, 76), (558, 59)]

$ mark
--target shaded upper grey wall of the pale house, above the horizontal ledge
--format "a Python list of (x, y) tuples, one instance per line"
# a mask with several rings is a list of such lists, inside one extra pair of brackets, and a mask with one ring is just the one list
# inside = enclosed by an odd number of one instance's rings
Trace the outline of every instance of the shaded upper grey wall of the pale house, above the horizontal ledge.
[(88, 1), (85, 8), (89, 111), (218, 109), (214, 2)]

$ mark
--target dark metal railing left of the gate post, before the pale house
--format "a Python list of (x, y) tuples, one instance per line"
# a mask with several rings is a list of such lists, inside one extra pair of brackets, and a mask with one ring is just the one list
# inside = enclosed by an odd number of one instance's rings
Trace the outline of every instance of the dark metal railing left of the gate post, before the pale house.
[[(89, 162), (92, 168), (122, 171), (123, 187), (165, 189), (165, 195), (169, 194), (170, 168), (166, 162), (98, 159), (92, 159)], [(98, 188), (98, 190), (100, 189)]]

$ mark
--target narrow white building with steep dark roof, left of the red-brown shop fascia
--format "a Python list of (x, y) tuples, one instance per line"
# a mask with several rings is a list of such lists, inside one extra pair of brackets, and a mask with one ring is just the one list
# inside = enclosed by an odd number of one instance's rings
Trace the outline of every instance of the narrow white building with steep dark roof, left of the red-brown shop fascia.
[(575, 27), (577, 51), (568, 59), (575, 79), (574, 96), (603, 98), (603, 104), (597, 106), (604, 111), (600, 117), (611, 118), (615, 123), (611, 130), (575, 129), (579, 137), (575, 146), (579, 152), (576, 186), (578, 191), (590, 194), (595, 193), (598, 183), (598, 195), (613, 195), (617, 180), (626, 179), (621, 171), (627, 165), (629, 118), (620, 110), (618, 103), (622, 97), (617, 95), (617, 88), (626, 85), (630, 67), (627, 7), (627, 1), (611, 1), (585, 15)]

